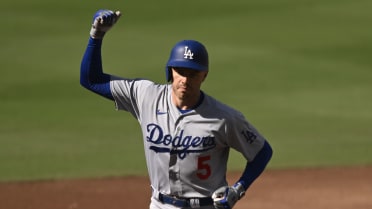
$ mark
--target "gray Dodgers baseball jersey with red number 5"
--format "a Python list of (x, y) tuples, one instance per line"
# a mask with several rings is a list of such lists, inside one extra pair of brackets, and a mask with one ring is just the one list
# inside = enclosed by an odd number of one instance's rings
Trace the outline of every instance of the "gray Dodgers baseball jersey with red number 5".
[(265, 139), (244, 116), (205, 94), (182, 114), (171, 100), (171, 85), (149, 80), (113, 80), (116, 108), (140, 123), (151, 186), (179, 197), (206, 197), (226, 186), (229, 148), (250, 161)]

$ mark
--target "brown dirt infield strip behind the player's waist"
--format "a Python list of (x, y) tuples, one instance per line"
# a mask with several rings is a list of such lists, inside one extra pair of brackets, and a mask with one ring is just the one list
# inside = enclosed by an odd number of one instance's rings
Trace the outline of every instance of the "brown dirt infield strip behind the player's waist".
[[(147, 209), (149, 196), (147, 177), (0, 183), (1, 209)], [(353, 167), (268, 170), (234, 209), (371, 208), (372, 167)]]

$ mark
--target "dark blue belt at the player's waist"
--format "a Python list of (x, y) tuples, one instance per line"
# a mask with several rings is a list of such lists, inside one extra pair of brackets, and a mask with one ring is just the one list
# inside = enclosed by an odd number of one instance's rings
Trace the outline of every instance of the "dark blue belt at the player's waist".
[(159, 201), (161, 203), (174, 205), (179, 208), (200, 208), (203, 206), (213, 205), (213, 199), (210, 197), (202, 197), (202, 198), (179, 198), (174, 197), (166, 194), (159, 193)]

